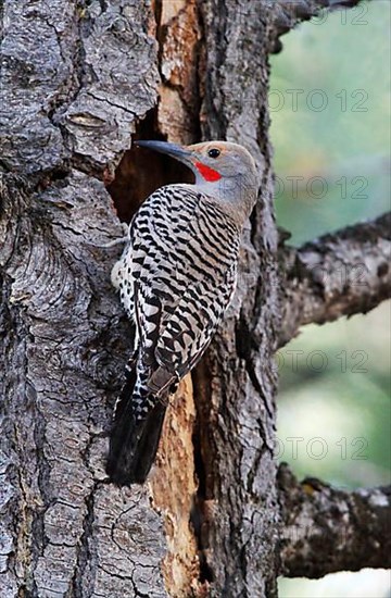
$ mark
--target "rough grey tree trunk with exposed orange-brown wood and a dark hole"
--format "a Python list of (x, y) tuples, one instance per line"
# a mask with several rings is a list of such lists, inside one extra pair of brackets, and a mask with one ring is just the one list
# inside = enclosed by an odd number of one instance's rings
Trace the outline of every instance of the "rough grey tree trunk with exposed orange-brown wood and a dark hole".
[[(287, 297), (312, 294), (305, 322), (326, 308), (304, 266), (279, 292), (267, 57), (299, 21), (356, 1), (1, 2), (4, 598), (276, 595), (292, 522), (273, 460), (273, 354), (303, 323), (292, 309), (282, 325)], [(128, 221), (187, 176), (128, 151), (131, 137), (242, 142), (262, 186), (225, 324), (172, 399), (150, 482), (118, 488), (104, 459), (133, 333), (110, 286), (121, 249), (103, 246), (123, 234), (116, 213)], [(302, 574), (301, 547), (283, 546), (282, 566)]]

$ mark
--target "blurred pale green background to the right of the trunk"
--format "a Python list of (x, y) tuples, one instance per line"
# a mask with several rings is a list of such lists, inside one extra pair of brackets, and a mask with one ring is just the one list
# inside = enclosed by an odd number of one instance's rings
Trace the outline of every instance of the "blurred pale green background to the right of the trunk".
[[(273, 57), (276, 211), (292, 245), (390, 210), (390, 12), (373, 0), (324, 13)], [(306, 326), (280, 351), (279, 454), (299, 477), (390, 483), (390, 311)], [(280, 580), (280, 596), (390, 597), (390, 582), (370, 570)]]

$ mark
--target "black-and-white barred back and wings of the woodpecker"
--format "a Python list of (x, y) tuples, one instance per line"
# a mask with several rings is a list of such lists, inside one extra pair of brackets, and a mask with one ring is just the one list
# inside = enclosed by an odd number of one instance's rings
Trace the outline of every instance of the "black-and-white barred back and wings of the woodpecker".
[(207, 196), (169, 186), (141, 207), (130, 237), (141, 361), (181, 378), (229, 304), (240, 233)]

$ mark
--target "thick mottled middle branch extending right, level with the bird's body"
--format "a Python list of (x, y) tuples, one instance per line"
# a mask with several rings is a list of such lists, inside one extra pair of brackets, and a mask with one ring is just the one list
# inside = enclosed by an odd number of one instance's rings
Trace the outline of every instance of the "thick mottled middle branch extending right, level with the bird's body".
[(280, 344), (300, 326), (366, 313), (391, 295), (391, 213), (281, 252)]

